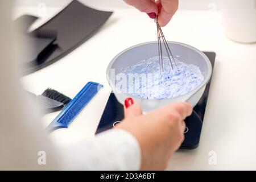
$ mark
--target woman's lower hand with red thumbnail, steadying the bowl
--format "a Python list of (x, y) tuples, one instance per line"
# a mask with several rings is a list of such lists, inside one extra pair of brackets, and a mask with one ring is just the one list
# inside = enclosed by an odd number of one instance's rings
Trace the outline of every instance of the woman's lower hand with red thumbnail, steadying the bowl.
[(131, 98), (125, 101), (125, 119), (116, 128), (134, 135), (141, 147), (141, 169), (166, 169), (169, 159), (184, 140), (184, 119), (192, 106), (177, 102), (145, 115)]

